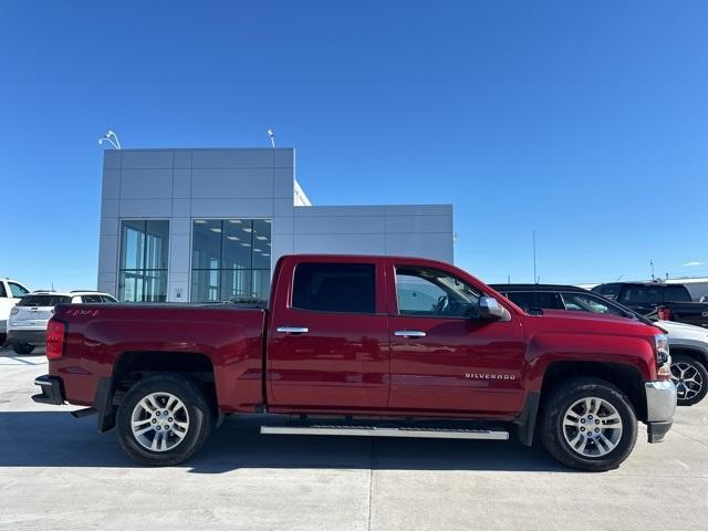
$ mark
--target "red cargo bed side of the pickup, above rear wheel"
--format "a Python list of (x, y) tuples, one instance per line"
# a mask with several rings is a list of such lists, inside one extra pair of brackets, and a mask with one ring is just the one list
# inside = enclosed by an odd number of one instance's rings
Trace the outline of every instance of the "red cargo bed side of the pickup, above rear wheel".
[(63, 378), (74, 403), (93, 404), (100, 378), (111, 378), (118, 362), (149, 363), (155, 356), (177, 360), (180, 354), (194, 353), (214, 364), (220, 407), (252, 412), (262, 400), (263, 309), (240, 304), (60, 304), (55, 319), (69, 323), (67, 345), (65, 357), (51, 364), (51, 374)]

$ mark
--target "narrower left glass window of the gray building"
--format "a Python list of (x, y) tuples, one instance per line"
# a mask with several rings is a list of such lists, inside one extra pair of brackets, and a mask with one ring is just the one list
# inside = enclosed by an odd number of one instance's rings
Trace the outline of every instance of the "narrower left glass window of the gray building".
[(169, 221), (125, 219), (121, 222), (118, 299), (167, 300)]

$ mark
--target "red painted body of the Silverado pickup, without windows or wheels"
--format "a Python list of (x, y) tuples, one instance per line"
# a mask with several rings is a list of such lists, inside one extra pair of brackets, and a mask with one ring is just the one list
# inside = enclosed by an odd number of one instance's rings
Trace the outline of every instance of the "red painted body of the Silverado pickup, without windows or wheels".
[[(376, 313), (320, 313), (290, 306), (294, 268), (303, 261), (376, 266)], [(398, 315), (396, 266), (442, 270), (496, 296), (509, 322)], [(539, 391), (559, 361), (604, 361), (657, 379), (654, 326), (590, 313), (525, 314), (468, 273), (413, 258), (298, 256), (281, 259), (267, 311), (225, 305), (81, 305), (56, 308), (51, 326), (66, 323), (61, 376), (69, 402), (90, 405), (100, 377), (111, 377), (124, 353), (198, 353), (215, 371), (219, 407), (273, 413), (511, 418), (529, 391)], [(304, 326), (289, 335), (279, 326)], [(53, 330), (53, 329), (52, 329)], [(399, 337), (396, 330), (426, 332)], [(53, 348), (52, 353), (56, 350)], [(263, 374), (266, 366), (266, 374)], [(263, 383), (266, 386), (263, 386)], [(267, 396), (263, 396), (266, 389)]]

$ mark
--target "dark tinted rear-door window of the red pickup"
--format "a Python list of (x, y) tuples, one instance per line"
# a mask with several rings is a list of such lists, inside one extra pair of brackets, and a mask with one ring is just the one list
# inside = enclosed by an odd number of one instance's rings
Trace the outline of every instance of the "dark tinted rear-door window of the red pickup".
[(373, 263), (299, 263), (291, 306), (314, 312), (376, 313), (376, 267)]

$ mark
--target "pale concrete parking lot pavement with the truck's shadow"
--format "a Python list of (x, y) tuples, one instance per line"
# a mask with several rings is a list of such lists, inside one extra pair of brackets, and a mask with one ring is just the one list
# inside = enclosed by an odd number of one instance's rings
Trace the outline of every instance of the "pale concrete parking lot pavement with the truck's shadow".
[(45, 372), (42, 355), (0, 350), (0, 529), (708, 527), (708, 403), (606, 473), (511, 441), (262, 436), (236, 418), (187, 465), (150, 469), (95, 417), (32, 403)]

